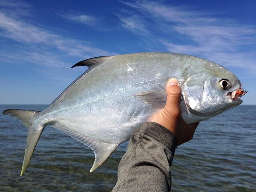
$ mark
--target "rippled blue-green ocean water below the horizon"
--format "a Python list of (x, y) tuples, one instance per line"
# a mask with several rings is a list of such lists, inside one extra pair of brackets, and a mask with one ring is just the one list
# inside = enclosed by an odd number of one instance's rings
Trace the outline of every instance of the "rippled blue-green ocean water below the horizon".
[[(42, 111), (48, 106), (0, 106), (0, 191), (111, 191), (127, 142), (95, 172), (90, 148), (46, 127), (30, 165), (20, 177), (27, 129), (2, 115), (8, 108)], [(174, 192), (256, 191), (256, 106), (238, 106), (200, 122), (193, 140), (178, 146), (172, 164)]]

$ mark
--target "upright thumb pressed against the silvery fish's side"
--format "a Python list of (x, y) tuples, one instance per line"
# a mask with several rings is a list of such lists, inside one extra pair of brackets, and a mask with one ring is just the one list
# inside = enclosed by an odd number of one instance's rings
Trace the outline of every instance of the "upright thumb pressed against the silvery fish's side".
[(165, 109), (170, 113), (180, 113), (180, 86), (179, 82), (175, 78), (171, 78), (168, 81), (167, 88), (166, 88), (166, 94), (167, 94), (167, 102)]

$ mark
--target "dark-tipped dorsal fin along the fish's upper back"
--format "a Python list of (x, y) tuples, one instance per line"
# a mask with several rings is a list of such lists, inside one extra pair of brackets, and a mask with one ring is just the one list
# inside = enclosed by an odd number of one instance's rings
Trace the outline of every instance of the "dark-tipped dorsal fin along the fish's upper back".
[(60, 98), (64, 94), (64, 92), (66, 92), (66, 90), (68, 90), (68, 88), (70, 88), (78, 79), (80, 79), (82, 76), (84, 76), (90, 70), (99, 66), (104, 61), (108, 60), (109, 58), (110, 58), (110, 56), (94, 57), (94, 58), (90, 58), (90, 59), (80, 61), (77, 64), (75, 64), (74, 66), (72, 66), (71, 68), (76, 67), (76, 66), (87, 66), (89, 68), (82, 75), (80, 75), (76, 80), (74, 80), (64, 91), (62, 91), (62, 93), (56, 99), (53, 100), (53, 102), (50, 104), (50, 106), (52, 104), (54, 104), (56, 102), (56, 100), (58, 100), (58, 98)]

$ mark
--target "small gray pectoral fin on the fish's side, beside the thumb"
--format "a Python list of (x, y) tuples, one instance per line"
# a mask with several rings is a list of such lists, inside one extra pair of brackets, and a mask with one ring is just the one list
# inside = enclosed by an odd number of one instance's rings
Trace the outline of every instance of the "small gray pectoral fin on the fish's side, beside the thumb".
[(140, 92), (134, 97), (157, 109), (164, 108), (167, 100), (166, 92)]

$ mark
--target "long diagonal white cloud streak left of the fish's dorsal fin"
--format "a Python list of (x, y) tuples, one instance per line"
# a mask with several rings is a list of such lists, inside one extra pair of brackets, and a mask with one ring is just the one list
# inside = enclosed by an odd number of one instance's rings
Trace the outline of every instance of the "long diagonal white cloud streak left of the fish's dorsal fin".
[(109, 55), (111, 53), (87, 46), (87, 42), (72, 38), (65, 38), (43, 28), (34, 26), (22, 20), (6, 16), (0, 12), (0, 36), (11, 38), (27, 44), (44, 44), (67, 52), (72, 56)]

